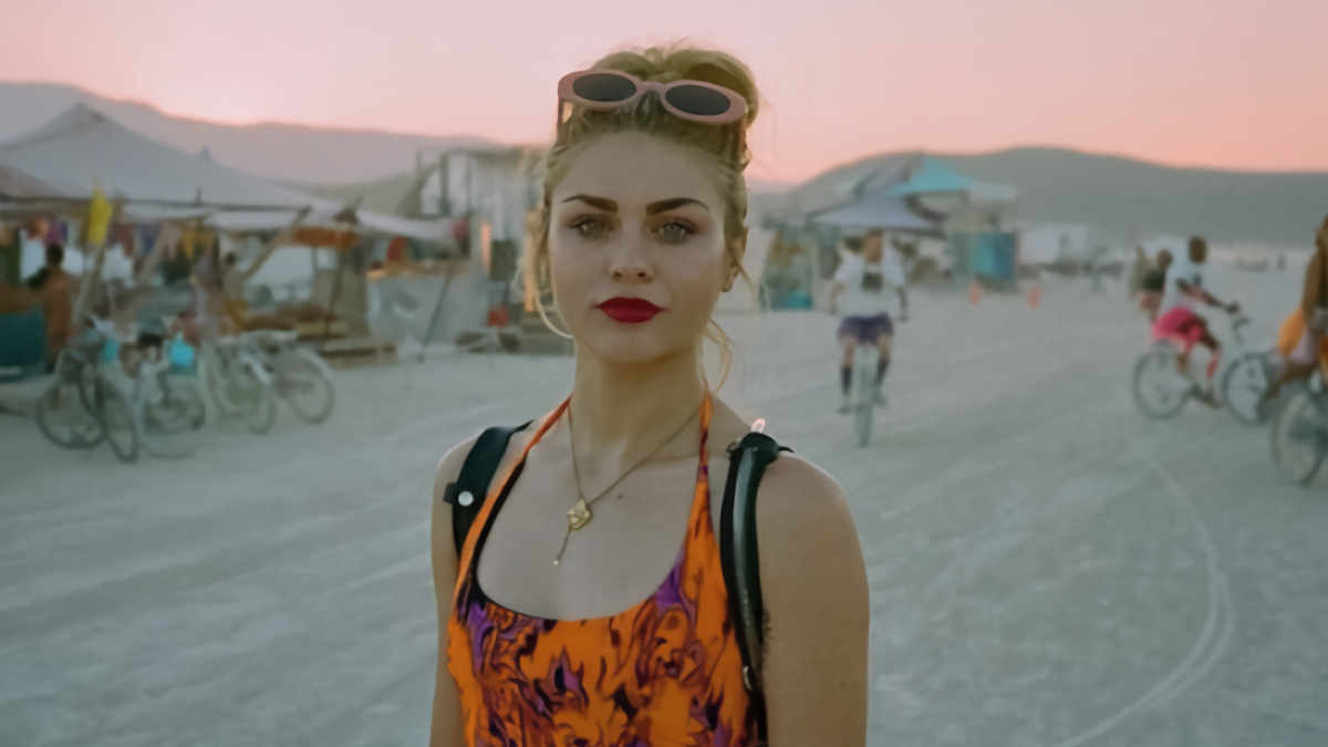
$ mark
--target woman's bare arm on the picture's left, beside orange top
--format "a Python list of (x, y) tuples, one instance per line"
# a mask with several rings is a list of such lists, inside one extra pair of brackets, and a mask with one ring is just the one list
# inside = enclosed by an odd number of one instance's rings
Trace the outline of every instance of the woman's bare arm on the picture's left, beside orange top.
[(429, 728), (429, 747), (463, 744), (461, 698), (457, 683), (448, 671), (448, 619), (452, 617), (452, 593), (457, 586), (457, 550), (452, 541), (452, 506), (442, 502), (449, 482), (457, 480), (461, 465), (474, 445), (474, 439), (456, 447), (442, 461), (433, 481), (433, 522), (430, 546), (433, 554), (433, 589), (438, 603), (438, 669), (433, 689), (433, 723)]

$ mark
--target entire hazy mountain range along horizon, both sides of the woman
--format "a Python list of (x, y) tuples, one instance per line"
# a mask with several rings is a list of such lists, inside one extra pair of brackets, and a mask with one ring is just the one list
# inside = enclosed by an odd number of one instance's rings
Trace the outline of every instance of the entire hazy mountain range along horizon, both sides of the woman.
[[(323, 197), (372, 195), (390, 209), (414, 182), (416, 150), (495, 145), (478, 137), (430, 137), (303, 125), (222, 125), (163, 114), (54, 84), (0, 82), (0, 142), (52, 120), (84, 101), (147, 137), (199, 152), (260, 177), (295, 182)], [(1122, 242), (1169, 234), (1203, 234), (1215, 241), (1311, 246), (1328, 213), (1328, 171), (1252, 173), (1177, 169), (1076, 150), (1024, 148), (989, 154), (938, 153), (975, 178), (1020, 190), (1015, 218), (1078, 222)], [(842, 201), (842, 189), (908, 154), (863, 158), (830, 169), (802, 185), (749, 181), (753, 214)], [(365, 207), (369, 207), (365, 203)]]

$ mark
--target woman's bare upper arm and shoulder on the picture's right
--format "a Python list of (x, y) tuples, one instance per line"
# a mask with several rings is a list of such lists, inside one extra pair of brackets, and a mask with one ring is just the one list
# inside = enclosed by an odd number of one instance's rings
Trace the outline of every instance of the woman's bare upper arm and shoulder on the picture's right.
[(843, 489), (782, 457), (762, 480), (757, 524), (769, 747), (863, 747), (870, 602)]

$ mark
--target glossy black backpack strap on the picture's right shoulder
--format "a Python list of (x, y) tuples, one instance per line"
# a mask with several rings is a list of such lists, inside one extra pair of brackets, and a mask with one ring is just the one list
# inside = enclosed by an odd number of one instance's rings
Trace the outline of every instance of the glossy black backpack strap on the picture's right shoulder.
[[(760, 431), (752, 431), (729, 447), (729, 477), (724, 485), (720, 513), (720, 564), (724, 569), (724, 585), (729, 590), (729, 615), (733, 618), (742, 655), (742, 683), (762, 711), (761, 645), (765, 635), (765, 609), (761, 605), (756, 496), (766, 465), (781, 451), (791, 449), (781, 447)], [(764, 712), (760, 722), (765, 722)]]

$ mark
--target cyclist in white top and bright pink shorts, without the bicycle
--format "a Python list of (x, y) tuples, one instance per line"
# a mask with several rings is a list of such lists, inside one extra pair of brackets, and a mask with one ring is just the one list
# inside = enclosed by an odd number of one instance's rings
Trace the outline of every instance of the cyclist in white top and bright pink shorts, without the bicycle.
[(1240, 310), (1236, 303), (1222, 303), (1203, 288), (1203, 270), (1208, 259), (1208, 243), (1201, 237), (1190, 239), (1189, 257), (1174, 261), (1166, 272), (1166, 288), (1162, 292), (1161, 316), (1153, 324), (1153, 339), (1173, 340), (1179, 344), (1181, 355), (1177, 356), (1177, 367), (1181, 375), (1190, 377), (1190, 352), (1195, 344), (1202, 344), (1211, 352), (1208, 367), (1204, 371), (1204, 385), (1194, 384), (1195, 399), (1218, 407), (1218, 400), (1212, 395), (1212, 375), (1222, 362), (1222, 343), (1208, 331), (1208, 323), (1195, 314), (1195, 302), (1206, 306), (1223, 308), (1228, 314)]

